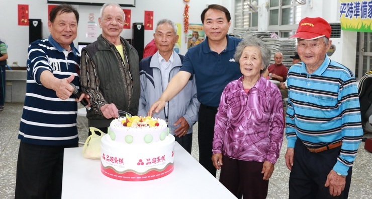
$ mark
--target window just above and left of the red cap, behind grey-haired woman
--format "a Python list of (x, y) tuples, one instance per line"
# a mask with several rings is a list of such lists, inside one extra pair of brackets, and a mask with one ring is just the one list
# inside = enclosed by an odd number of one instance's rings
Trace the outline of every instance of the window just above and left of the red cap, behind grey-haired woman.
[(278, 32), (280, 37), (290, 37), (301, 20), (301, 5), (294, 0), (270, 0), (268, 15), (268, 30)]

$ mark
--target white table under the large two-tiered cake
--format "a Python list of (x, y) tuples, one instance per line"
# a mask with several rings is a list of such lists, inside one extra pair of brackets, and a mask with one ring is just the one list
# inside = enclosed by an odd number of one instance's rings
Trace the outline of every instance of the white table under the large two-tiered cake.
[(105, 176), (100, 160), (85, 159), (81, 151), (82, 148), (64, 150), (62, 198), (236, 198), (177, 142), (173, 172), (140, 182)]

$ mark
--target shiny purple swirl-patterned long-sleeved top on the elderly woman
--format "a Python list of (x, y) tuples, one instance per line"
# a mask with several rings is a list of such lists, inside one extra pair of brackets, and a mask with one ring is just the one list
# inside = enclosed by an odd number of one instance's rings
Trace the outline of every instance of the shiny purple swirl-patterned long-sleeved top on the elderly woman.
[(213, 154), (275, 164), (282, 147), (284, 115), (281, 93), (261, 78), (245, 93), (242, 80), (224, 89), (216, 114)]

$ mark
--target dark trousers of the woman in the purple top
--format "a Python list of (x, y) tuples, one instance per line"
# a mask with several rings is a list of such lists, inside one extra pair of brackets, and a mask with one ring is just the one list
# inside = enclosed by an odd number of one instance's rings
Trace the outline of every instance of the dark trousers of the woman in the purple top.
[(263, 162), (236, 160), (222, 157), (220, 182), (237, 198), (264, 199), (267, 196), (268, 180), (263, 180)]

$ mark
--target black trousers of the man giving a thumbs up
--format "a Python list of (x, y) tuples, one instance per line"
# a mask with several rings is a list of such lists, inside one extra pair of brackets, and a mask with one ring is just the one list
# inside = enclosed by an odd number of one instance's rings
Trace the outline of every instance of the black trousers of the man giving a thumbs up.
[(61, 198), (64, 148), (21, 142), (18, 152), (16, 196), (19, 198)]

